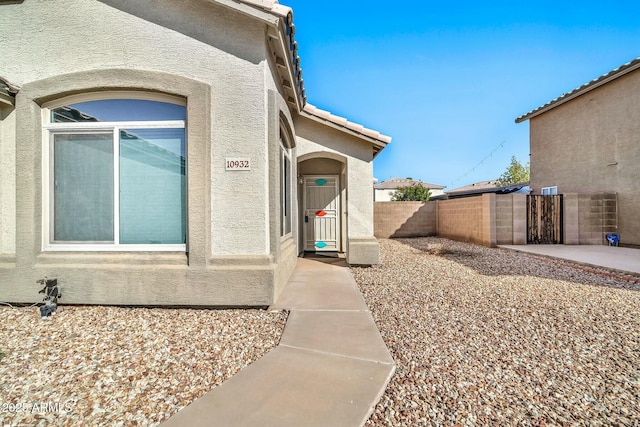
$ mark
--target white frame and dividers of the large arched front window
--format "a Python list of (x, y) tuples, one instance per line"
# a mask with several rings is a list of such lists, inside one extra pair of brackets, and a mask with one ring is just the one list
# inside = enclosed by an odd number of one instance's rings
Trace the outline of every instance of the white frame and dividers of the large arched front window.
[[(55, 108), (87, 101), (110, 99), (140, 99), (187, 106), (181, 97), (161, 93), (112, 91), (105, 93), (85, 93), (57, 99), (42, 107), (42, 249), (43, 251), (93, 251), (93, 252), (186, 252), (188, 247), (188, 227), (185, 229), (186, 242), (179, 244), (131, 244), (120, 243), (120, 206), (117, 193), (120, 188), (119, 143), (120, 131), (131, 129), (184, 129), (185, 153), (188, 151), (187, 120), (152, 120), (152, 121), (114, 121), (114, 122), (51, 122), (51, 111)], [(56, 242), (54, 240), (54, 137), (59, 134), (73, 133), (111, 133), (113, 137), (114, 158), (114, 241), (113, 242)], [(185, 155), (186, 161), (186, 155)], [(188, 163), (185, 163), (185, 179), (188, 182)], [(185, 187), (185, 198), (188, 188)], [(187, 203), (188, 206), (188, 203)], [(188, 208), (187, 208), (188, 223)]]

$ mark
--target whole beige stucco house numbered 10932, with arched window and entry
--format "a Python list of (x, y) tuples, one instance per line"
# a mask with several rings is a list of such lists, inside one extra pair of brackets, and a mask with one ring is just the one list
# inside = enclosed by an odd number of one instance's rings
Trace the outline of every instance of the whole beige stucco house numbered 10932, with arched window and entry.
[(378, 262), (391, 139), (307, 103), (273, 0), (0, 3), (0, 301), (267, 306)]

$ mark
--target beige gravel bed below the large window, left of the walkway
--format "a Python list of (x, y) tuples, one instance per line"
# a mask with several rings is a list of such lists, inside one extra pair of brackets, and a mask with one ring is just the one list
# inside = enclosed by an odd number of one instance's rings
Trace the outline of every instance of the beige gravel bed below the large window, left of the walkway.
[(40, 320), (35, 307), (0, 307), (0, 426), (157, 424), (275, 347), (286, 321), (263, 310), (62, 308)]

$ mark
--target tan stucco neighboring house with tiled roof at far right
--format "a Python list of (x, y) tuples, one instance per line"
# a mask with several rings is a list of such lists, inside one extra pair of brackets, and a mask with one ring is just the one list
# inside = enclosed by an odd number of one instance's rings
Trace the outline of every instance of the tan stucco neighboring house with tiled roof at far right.
[(640, 245), (640, 58), (516, 123), (526, 120), (534, 193), (615, 192), (620, 242)]

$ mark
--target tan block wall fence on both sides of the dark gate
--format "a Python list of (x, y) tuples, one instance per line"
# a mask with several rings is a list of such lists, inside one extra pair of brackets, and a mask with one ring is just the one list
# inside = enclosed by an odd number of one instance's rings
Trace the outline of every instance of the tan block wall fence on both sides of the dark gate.
[[(606, 244), (615, 232), (615, 194), (564, 195), (565, 244)], [(482, 194), (451, 200), (376, 202), (377, 238), (438, 236), (484, 246), (527, 243), (527, 196)]]

